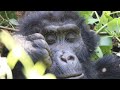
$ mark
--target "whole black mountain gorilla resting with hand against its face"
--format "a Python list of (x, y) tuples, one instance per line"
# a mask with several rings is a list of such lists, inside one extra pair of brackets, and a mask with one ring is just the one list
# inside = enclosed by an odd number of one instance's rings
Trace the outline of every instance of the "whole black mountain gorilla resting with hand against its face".
[[(77, 12), (28, 11), (19, 23), (20, 31), (13, 34), (14, 39), (34, 62), (43, 60), (50, 65), (46, 73), (58, 79), (120, 78), (119, 57), (90, 60), (99, 38)], [(13, 70), (16, 79), (24, 78), (20, 67), (18, 63)]]

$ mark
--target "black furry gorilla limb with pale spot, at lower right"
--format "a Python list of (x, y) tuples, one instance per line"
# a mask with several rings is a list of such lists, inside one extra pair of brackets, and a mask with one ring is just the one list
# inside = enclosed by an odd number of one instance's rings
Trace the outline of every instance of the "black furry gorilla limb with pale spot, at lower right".
[(120, 57), (109, 55), (95, 64), (99, 79), (120, 79)]

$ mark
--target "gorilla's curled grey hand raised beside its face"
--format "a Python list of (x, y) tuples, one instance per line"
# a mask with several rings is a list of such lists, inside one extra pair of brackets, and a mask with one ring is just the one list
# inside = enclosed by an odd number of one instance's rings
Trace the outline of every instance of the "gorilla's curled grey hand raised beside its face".
[(52, 64), (50, 58), (50, 48), (45, 41), (44, 36), (40, 33), (34, 33), (31, 35), (20, 35), (15, 34), (13, 37), (15, 40), (27, 51), (27, 53), (31, 56), (34, 62), (38, 60), (42, 60), (47, 66)]

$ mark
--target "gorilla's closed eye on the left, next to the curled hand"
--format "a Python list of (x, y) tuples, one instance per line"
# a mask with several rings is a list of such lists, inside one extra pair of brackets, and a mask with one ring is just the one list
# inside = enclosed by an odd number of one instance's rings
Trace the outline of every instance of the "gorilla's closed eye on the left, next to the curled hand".
[(56, 42), (56, 35), (55, 33), (49, 33), (45, 35), (45, 39), (49, 45), (54, 44)]

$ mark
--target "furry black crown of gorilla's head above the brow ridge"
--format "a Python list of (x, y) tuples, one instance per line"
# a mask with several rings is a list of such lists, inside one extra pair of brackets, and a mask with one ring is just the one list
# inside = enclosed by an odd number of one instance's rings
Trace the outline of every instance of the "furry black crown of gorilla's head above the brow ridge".
[(67, 23), (79, 25), (83, 21), (84, 19), (80, 18), (78, 13), (74, 11), (29, 11), (19, 23), (20, 30), (33, 28), (40, 30), (46, 25), (64, 25)]

